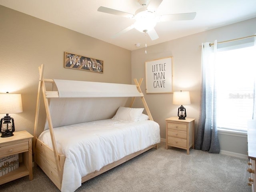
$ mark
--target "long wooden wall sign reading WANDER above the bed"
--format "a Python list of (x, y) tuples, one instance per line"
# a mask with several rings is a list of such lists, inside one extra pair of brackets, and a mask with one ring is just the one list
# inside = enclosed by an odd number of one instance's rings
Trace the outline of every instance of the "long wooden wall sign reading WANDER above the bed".
[(103, 61), (65, 52), (64, 67), (103, 73)]

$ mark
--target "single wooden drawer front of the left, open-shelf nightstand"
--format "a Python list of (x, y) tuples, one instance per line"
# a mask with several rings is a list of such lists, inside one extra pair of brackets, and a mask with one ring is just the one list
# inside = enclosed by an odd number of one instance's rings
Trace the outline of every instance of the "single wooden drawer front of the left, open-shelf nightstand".
[(28, 151), (28, 142), (2, 146), (0, 148), (0, 157), (9, 156)]

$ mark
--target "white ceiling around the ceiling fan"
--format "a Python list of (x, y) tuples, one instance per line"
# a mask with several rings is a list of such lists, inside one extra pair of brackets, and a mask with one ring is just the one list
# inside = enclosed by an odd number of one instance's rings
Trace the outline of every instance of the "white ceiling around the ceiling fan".
[[(135, 50), (145, 44), (145, 34), (132, 29), (116, 38), (117, 32), (134, 20), (98, 12), (104, 6), (134, 14), (142, 6), (139, 0), (0, 0), (0, 5), (46, 20), (65, 28)], [(218, 28), (256, 17), (256, 0), (163, 0), (156, 14), (196, 12), (194, 20), (158, 22), (156, 40), (146, 37), (147, 45), (154, 45), (190, 34)]]

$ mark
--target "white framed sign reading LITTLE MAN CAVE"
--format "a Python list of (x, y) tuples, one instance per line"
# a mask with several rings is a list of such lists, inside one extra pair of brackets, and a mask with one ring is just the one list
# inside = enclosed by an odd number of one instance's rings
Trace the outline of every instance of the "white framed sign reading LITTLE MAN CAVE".
[(172, 57), (145, 62), (146, 93), (172, 93)]

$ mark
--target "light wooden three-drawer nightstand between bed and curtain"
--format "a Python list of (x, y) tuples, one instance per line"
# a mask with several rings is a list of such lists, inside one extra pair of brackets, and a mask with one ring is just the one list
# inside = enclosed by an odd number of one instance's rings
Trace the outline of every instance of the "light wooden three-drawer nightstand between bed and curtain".
[(195, 119), (186, 118), (180, 120), (178, 117), (170, 117), (166, 120), (166, 149), (168, 146), (187, 150), (194, 149)]

